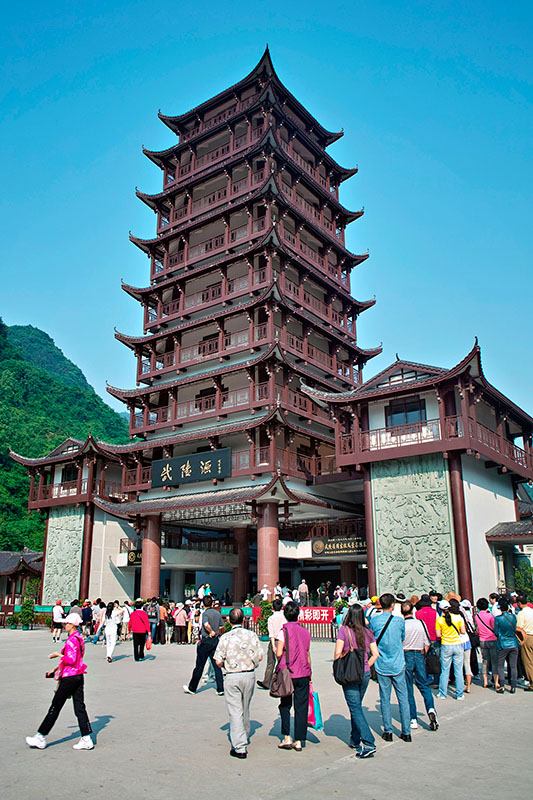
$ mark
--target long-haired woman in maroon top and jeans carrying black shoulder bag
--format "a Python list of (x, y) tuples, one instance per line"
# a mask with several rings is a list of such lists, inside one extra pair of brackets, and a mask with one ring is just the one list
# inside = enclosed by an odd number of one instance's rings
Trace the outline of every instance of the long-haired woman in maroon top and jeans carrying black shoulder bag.
[[(379, 656), (376, 637), (365, 625), (363, 609), (351, 605), (337, 633), (334, 660), (344, 657), (350, 650), (364, 651), (364, 676), (361, 683), (350, 683), (342, 687), (344, 699), (350, 710), (350, 747), (358, 758), (371, 758), (376, 752), (376, 742), (363, 711), (363, 698), (370, 681), (370, 667)], [(370, 655), (369, 655), (370, 653)]]

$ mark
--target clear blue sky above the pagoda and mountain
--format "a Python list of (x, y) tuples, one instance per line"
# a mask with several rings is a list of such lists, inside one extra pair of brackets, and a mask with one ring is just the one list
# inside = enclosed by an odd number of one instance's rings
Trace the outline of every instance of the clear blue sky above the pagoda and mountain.
[(268, 42), (287, 87), (331, 129), (359, 174), (341, 200), (370, 259), (353, 294), (383, 341), (366, 377), (402, 358), (451, 366), (477, 335), (485, 374), (533, 413), (532, 12), (516, 2), (26, 2), (0, 32), (0, 315), (47, 331), (111, 405), (132, 387), (113, 327), (141, 332), (120, 279), (144, 286), (128, 231), (155, 234), (135, 187), (161, 173), (141, 153), (182, 113), (244, 77)]

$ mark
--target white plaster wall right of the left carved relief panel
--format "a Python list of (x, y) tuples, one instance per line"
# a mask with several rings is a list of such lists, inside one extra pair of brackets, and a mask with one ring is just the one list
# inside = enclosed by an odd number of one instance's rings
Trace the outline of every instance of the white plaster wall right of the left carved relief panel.
[(96, 597), (106, 601), (134, 599), (135, 571), (118, 566), (120, 540), (127, 536), (137, 538), (131, 523), (95, 508), (89, 580), (90, 600)]

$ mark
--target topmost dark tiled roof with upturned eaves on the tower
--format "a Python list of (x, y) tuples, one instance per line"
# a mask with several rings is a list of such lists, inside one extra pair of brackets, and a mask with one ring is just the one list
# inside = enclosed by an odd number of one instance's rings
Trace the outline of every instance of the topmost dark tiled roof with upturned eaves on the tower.
[(310, 113), (307, 111), (304, 106), (294, 97), (291, 92), (281, 83), (280, 79), (278, 78), (276, 71), (274, 70), (274, 65), (272, 64), (272, 59), (270, 57), (270, 51), (268, 49), (268, 45), (265, 49), (265, 52), (261, 56), (258, 64), (253, 68), (253, 70), (242, 80), (238, 81), (237, 83), (233, 84), (224, 91), (220, 92), (219, 94), (211, 97), (209, 100), (201, 103), (195, 108), (192, 108), (190, 111), (185, 112), (184, 114), (178, 114), (176, 116), (167, 116), (159, 112), (159, 118), (167, 125), (172, 131), (175, 133), (180, 133), (183, 131), (183, 124), (192, 116), (197, 116), (200, 113), (206, 111), (210, 106), (216, 105), (220, 103), (221, 100), (224, 99), (227, 95), (231, 95), (238, 90), (244, 89), (247, 84), (252, 84), (254, 81), (260, 79), (263, 84), (267, 81), (272, 81), (276, 88), (282, 91), (291, 101), (291, 104), (294, 105), (295, 110), (298, 113), (302, 114), (304, 118), (312, 125), (312, 127), (316, 128), (317, 131), (321, 136), (324, 137), (327, 144), (331, 144), (332, 142), (337, 141), (343, 135), (342, 131), (334, 133), (332, 131), (326, 130)]

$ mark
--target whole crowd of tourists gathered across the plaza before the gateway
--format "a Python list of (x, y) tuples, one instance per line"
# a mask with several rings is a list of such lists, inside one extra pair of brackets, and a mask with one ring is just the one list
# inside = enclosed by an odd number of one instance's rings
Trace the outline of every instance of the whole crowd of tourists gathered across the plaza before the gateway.
[[(229, 715), (231, 756), (247, 758), (250, 703), (256, 685), (279, 698), (279, 748), (301, 751), (307, 740), (314, 697), (310, 685), (311, 635), (298, 622), (300, 606), (309, 602), (309, 594), (305, 581), (296, 587), (298, 602), (291, 592), (284, 594), (278, 586), (273, 613), (268, 618), (266, 669), (262, 680), (257, 681), (255, 671), (263, 650), (256, 633), (244, 625), (241, 608), (231, 609), (226, 631), (220, 601), (205, 587), (202, 597), (198, 593), (180, 603), (155, 597), (148, 602), (139, 599), (133, 605), (127, 601), (122, 605), (118, 601), (106, 604), (100, 598), (94, 603), (87, 600), (81, 606), (73, 601), (67, 616), (63, 616), (62, 604), (57, 603), (53, 638), (59, 640), (64, 628), (67, 640), (61, 652), (50, 654), (50, 658), (60, 661), (47, 677), (55, 677), (58, 688), (46, 717), (35, 736), (27, 737), (27, 744), (39, 749), (46, 746), (46, 735), (66, 700), (72, 697), (81, 731), (81, 740), (74, 747), (94, 747), (84, 703), (83, 656), (85, 643), (92, 639), (97, 644), (103, 632), (109, 662), (117, 639), (127, 639), (130, 634), (136, 661), (144, 659), (144, 648), (151, 643), (196, 643), (195, 667), (183, 690), (194, 695), (202, 678), (204, 682), (208, 680), (206, 666), (212, 670), (216, 692), (225, 697)], [(357, 591), (350, 589), (338, 597), (343, 602), (338, 603), (334, 629), (333, 673), (348, 707), (349, 745), (357, 758), (370, 758), (376, 752), (363, 705), (371, 679), (378, 683), (381, 736), (386, 742), (393, 739), (392, 689), (404, 742), (411, 742), (412, 731), (418, 728), (415, 686), (422, 696), (431, 731), (439, 728), (435, 701), (463, 701), (476, 676), (484, 688), (492, 688), (499, 695), (505, 693), (506, 684), (511, 694), (517, 688), (533, 691), (533, 604), (526, 596), (494, 593), (479, 598), (474, 607), (470, 600), (454, 593), (443, 597), (429, 591), (409, 599), (401, 593), (385, 593), (379, 598), (360, 600)], [(436, 695), (432, 689), (436, 689)]]

